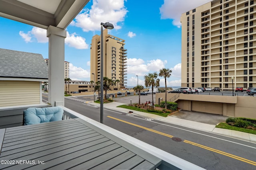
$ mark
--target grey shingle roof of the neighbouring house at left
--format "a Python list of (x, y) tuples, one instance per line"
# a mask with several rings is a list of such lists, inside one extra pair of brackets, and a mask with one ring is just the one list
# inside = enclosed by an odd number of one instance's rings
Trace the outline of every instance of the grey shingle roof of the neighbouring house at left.
[(48, 79), (41, 54), (0, 49), (0, 77)]

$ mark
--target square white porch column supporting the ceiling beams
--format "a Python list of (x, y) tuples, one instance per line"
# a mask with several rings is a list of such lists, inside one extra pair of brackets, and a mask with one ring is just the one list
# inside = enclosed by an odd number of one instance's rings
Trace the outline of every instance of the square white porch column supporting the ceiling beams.
[(47, 29), (47, 37), (49, 37), (48, 102), (52, 106), (64, 106), (64, 40), (66, 31), (50, 25)]

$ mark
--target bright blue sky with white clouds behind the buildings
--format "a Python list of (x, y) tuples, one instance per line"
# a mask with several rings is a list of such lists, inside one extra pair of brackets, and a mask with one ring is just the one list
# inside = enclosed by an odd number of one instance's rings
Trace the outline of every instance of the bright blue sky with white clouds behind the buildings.
[[(114, 2), (114, 3), (113, 3)], [(182, 13), (210, 0), (90, 0), (67, 27), (65, 61), (72, 80), (90, 81), (90, 43), (100, 35), (100, 23), (110, 22), (108, 33), (125, 39), (128, 50), (127, 86), (144, 85), (144, 75), (170, 68), (168, 86), (181, 84)], [(0, 48), (42, 54), (48, 59), (46, 30), (0, 17)], [(160, 77), (160, 86), (164, 79)]]

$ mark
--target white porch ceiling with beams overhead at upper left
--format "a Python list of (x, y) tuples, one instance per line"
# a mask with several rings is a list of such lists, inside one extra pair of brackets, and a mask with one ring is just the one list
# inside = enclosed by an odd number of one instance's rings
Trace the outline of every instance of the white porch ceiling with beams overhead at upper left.
[(0, 0), (0, 16), (43, 29), (66, 29), (89, 0)]

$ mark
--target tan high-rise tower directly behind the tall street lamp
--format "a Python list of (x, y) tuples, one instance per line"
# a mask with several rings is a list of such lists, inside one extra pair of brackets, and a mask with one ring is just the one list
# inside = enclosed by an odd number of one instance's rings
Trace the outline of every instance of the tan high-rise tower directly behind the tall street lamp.
[[(108, 29), (103, 30), (103, 76), (113, 81), (119, 80), (118, 90), (126, 88), (127, 84), (127, 49), (124, 49), (124, 41), (108, 34)], [(100, 35), (94, 35), (91, 43), (90, 80), (95, 82), (100, 82), (100, 43)], [(117, 84), (114, 88), (117, 88)]]

